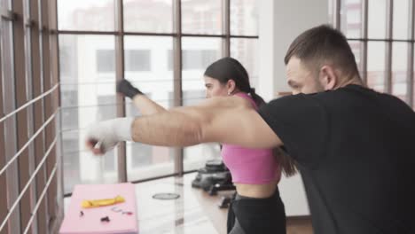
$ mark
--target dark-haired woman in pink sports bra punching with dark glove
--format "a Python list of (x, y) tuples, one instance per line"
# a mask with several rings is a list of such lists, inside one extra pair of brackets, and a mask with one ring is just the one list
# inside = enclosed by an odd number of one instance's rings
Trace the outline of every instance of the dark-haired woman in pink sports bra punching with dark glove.
[[(207, 98), (237, 96), (254, 109), (264, 104), (251, 88), (247, 70), (234, 58), (221, 58), (208, 66), (204, 80)], [(117, 91), (131, 98), (144, 115), (165, 111), (127, 81), (120, 82)], [(281, 171), (294, 175), (294, 163), (278, 149), (248, 149), (231, 144), (223, 144), (222, 156), (237, 191), (228, 213), (228, 233), (286, 233), (278, 182)]]

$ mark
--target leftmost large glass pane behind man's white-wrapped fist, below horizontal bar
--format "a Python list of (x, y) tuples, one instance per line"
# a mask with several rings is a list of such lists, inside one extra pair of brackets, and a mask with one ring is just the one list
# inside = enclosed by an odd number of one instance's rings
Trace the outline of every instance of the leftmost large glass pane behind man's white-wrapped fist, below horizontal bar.
[(95, 157), (83, 143), (90, 123), (116, 117), (114, 44), (113, 35), (59, 35), (65, 192), (118, 180), (117, 149)]

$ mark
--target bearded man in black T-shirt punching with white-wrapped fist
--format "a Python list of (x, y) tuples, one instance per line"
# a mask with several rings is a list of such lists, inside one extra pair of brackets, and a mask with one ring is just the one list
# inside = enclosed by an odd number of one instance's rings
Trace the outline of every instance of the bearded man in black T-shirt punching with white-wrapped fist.
[(96, 154), (124, 140), (283, 146), (301, 169), (315, 233), (415, 233), (415, 113), (364, 87), (346, 38), (331, 27), (299, 35), (285, 62), (295, 95), (258, 113), (239, 98), (213, 98), (98, 123), (87, 144)]

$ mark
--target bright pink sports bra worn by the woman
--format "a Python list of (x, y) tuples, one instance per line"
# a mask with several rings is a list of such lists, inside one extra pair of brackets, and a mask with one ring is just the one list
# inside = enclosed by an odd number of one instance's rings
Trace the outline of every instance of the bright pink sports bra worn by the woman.
[[(255, 110), (258, 106), (247, 93), (235, 94), (246, 98)], [(231, 170), (233, 183), (263, 184), (279, 180), (281, 169), (271, 149), (250, 149), (233, 144), (223, 144), (223, 162)]]

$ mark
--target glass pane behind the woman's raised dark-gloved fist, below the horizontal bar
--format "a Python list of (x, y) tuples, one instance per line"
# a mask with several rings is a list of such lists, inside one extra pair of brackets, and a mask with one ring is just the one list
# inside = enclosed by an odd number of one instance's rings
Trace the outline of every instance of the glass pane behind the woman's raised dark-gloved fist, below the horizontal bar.
[[(173, 106), (173, 38), (166, 36), (124, 37), (125, 78), (148, 98), (164, 108)], [(127, 99), (127, 116), (141, 115)], [(174, 153), (171, 148), (147, 144), (127, 144), (127, 174), (129, 181), (174, 173)]]

